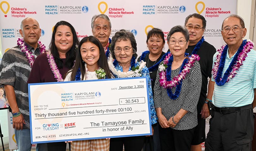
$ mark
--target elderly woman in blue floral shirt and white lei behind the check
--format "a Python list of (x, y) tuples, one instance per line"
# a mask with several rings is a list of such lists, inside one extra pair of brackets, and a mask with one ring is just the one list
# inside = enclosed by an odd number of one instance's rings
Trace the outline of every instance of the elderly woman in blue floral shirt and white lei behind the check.
[[(108, 60), (108, 65), (115, 78), (147, 77), (151, 124), (155, 124), (156, 113), (149, 70), (145, 66), (145, 62), (136, 62), (137, 43), (133, 34), (126, 30), (116, 32), (112, 38), (110, 52), (111, 56)], [(144, 136), (111, 138), (110, 151), (123, 151), (123, 146), (125, 146), (125, 151), (141, 151), (143, 142)]]

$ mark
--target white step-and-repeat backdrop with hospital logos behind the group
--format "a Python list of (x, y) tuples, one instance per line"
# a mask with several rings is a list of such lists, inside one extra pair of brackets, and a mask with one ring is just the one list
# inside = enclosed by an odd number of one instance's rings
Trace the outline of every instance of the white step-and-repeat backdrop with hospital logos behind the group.
[[(126, 29), (131, 31), (137, 41), (137, 54), (148, 50), (146, 33), (153, 27), (162, 29), (167, 38), (170, 29), (175, 25), (184, 25), (186, 16), (198, 13), (207, 20), (204, 39), (219, 49), (224, 41), (221, 36), (222, 21), (230, 14), (236, 14), (236, 0), (94, 0), (94, 1), (67, 1), (67, 0), (6, 0), (0, 1), (0, 35), (2, 52), (0, 58), (9, 48), (16, 46), (21, 20), (26, 17), (35, 18), (42, 30), (40, 41), (48, 48), (52, 36), (53, 26), (60, 20), (70, 22), (76, 29), (81, 40), (92, 35), (91, 18), (95, 14), (106, 14), (112, 23), (110, 38), (116, 31)], [(168, 50), (165, 44), (164, 51)], [(11, 116), (9, 116), (10, 118)], [(209, 129), (209, 119), (206, 120)], [(13, 137), (12, 120), (9, 119), (10, 149), (16, 149)], [(204, 144), (202, 144), (204, 148)]]

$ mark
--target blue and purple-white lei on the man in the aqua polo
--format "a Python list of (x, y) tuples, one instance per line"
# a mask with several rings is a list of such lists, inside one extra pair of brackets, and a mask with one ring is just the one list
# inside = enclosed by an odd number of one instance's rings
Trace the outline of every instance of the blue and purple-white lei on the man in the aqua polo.
[(237, 74), (239, 68), (243, 65), (243, 61), (245, 61), (247, 57), (247, 53), (253, 49), (253, 42), (244, 40), (235, 53), (234, 58), (229, 64), (228, 69), (225, 71), (223, 77), (223, 69), (225, 65), (225, 59), (228, 52), (228, 45), (225, 47), (222, 46), (221, 49), (217, 50), (219, 52), (216, 56), (216, 63), (214, 63), (214, 67), (212, 69), (212, 77), (215, 79), (215, 82), (218, 86), (223, 86), (225, 83), (229, 82), (230, 79), (234, 78)]

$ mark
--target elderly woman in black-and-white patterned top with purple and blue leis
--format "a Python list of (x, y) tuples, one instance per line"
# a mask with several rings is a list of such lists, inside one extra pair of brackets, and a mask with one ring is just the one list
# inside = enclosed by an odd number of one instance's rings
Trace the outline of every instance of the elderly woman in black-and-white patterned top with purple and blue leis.
[(202, 84), (199, 56), (185, 53), (189, 33), (180, 25), (170, 30), (167, 41), (170, 53), (159, 65), (154, 87), (161, 150), (188, 151)]

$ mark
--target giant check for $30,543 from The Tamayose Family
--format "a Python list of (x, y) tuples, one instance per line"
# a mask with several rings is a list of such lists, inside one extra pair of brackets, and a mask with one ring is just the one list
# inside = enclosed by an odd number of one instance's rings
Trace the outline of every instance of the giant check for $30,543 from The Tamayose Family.
[(145, 77), (28, 88), (31, 143), (151, 135)]

